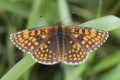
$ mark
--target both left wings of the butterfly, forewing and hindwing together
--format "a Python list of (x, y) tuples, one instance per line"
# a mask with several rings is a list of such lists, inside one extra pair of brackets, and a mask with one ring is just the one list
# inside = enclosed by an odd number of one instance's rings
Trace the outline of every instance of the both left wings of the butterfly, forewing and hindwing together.
[[(39, 27), (15, 32), (10, 35), (10, 38), (16, 47), (24, 52), (31, 53), (37, 62), (47, 64), (48, 57), (46, 56), (52, 58), (52, 55), (48, 52), (57, 52), (53, 46), (54, 44), (52, 44), (53, 41), (49, 40), (55, 33), (55, 27)], [(47, 59), (44, 57), (43, 61), (41, 61), (41, 57), (43, 55), (45, 55)], [(54, 56), (56, 57), (57, 55), (54, 54)], [(54, 60), (55, 61), (53, 61), (53, 59), (49, 59), (48, 64), (57, 62), (56, 59)]]

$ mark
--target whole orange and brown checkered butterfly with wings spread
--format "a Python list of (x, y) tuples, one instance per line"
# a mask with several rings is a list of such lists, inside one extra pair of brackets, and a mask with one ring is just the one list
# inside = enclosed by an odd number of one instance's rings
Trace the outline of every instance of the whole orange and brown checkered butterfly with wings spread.
[(53, 65), (58, 62), (80, 64), (86, 60), (88, 52), (106, 41), (106, 31), (81, 27), (57, 26), (37, 27), (15, 32), (10, 35), (13, 44), (32, 55), (41, 64)]

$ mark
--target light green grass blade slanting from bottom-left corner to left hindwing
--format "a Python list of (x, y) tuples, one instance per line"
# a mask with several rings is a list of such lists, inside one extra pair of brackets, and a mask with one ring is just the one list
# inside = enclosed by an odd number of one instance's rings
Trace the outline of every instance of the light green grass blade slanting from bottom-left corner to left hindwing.
[(16, 80), (33, 64), (35, 64), (35, 61), (31, 58), (31, 55), (27, 55), (22, 60), (20, 60), (11, 70), (9, 70), (7, 74), (5, 74), (1, 79)]

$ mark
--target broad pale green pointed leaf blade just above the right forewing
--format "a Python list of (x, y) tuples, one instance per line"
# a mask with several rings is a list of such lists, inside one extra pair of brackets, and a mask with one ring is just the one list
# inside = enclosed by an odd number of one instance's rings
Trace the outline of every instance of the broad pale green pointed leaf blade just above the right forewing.
[(80, 26), (111, 31), (120, 28), (120, 18), (116, 16), (106, 16), (85, 22), (83, 24), (80, 24)]

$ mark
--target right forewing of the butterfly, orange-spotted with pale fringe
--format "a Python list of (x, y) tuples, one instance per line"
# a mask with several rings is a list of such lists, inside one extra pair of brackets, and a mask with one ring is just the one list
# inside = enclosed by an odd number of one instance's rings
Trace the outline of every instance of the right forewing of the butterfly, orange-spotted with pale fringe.
[(89, 52), (98, 48), (108, 38), (108, 32), (79, 26), (65, 27), (65, 33)]

